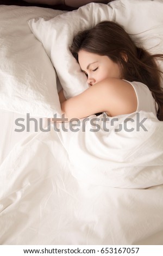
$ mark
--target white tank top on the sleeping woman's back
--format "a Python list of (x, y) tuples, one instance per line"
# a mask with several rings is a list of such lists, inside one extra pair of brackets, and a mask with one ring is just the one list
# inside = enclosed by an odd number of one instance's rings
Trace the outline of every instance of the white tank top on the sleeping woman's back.
[[(152, 96), (151, 90), (149, 88), (141, 83), (141, 82), (129, 82), (127, 80), (124, 80), (133, 86), (136, 97), (137, 97), (137, 109), (136, 111), (146, 111), (146, 112), (152, 112), (155, 116), (158, 111), (158, 104), (155, 102), (154, 97)], [(156, 109), (155, 109), (156, 105)]]

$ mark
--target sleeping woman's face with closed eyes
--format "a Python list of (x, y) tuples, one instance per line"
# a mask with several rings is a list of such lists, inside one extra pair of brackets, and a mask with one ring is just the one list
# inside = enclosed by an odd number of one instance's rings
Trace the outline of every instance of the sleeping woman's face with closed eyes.
[(120, 64), (113, 62), (108, 56), (80, 50), (78, 61), (90, 86), (106, 78), (122, 78)]

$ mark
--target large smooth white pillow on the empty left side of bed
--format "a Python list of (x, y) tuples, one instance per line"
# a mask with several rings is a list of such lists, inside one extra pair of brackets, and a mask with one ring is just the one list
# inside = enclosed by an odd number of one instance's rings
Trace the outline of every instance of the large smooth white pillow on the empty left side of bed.
[(0, 109), (42, 117), (61, 113), (54, 67), (27, 23), (61, 13), (0, 5)]

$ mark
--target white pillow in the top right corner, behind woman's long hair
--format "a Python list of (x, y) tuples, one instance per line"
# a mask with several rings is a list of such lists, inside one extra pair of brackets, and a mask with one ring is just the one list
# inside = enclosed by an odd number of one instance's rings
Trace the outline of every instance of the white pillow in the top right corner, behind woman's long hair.
[[(113, 21), (126, 30), (137, 46), (152, 54), (163, 52), (162, 0), (116, 0), (109, 5), (114, 11)], [(163, 71), (162, 60), (158, 63)]]

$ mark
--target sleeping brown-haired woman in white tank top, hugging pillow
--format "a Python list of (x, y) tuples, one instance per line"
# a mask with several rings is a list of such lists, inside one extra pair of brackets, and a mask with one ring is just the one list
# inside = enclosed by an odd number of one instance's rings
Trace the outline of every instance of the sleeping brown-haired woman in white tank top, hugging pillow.
[(87, 77), (89, 88), (66, 100), (59, 92), (62, 113), (85, 118), (105, 112), (109, 117), (136, 111), (153, 112), (163, 120), (161, 71), (156, 58), (137, 47), (115, 22), (103, 21), (79, 32), (70, 51)]

